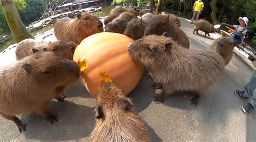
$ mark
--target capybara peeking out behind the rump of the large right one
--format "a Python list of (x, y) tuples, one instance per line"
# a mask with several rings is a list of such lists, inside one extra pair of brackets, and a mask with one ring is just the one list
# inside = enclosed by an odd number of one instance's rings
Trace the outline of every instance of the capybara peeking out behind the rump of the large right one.
[(225, 65), (227, 65), (233, 56), (234, 45), (234, 40), (231, 37), (220, 37), (213, 42), (211, 50), (223, 56)]

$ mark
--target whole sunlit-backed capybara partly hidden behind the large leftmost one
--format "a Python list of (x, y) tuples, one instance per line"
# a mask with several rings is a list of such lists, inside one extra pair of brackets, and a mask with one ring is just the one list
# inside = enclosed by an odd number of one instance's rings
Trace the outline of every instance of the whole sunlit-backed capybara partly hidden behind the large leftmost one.
[(26, 56), (32, 55), (35, 49), (37, 49), (37, 51), (52, 51), (56, 53), (57, 56), (73, 60), (76, 47), (77, 44), (73, 41), (58, 40), (48, 43), (35, 39), (25, 39), (17, 44), (15, 54), (16, 59), (21, 60)]

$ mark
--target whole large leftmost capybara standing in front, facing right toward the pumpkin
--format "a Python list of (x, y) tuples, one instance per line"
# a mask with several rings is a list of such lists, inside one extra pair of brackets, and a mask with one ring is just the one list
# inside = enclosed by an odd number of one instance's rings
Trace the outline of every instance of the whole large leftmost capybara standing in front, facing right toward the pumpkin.
[(0, 73), (0, 114), (14, 121), (20, 132), (26, 130), (26, 124), (15, 115), (35, 113), (53, 123), (57, 119), (47, 110), (50, 101), (59, 98), (79, 77), (75, 61), (53, 52), (38, 52), (19, 60)]

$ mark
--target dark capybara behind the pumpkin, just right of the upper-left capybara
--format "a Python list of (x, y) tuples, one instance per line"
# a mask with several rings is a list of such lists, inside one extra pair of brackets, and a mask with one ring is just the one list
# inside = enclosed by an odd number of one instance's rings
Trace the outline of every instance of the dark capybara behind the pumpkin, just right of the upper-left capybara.
[(116, 19), (112, 20), (112, 22), (108, 23), (105, 26), (105, 32), (115, 32), (123, 34), (128, 22), (130, 22), (133, 17), (133, 13), (123, 12), (122, 14), (120, 14), (120, 16), (118, 16)]

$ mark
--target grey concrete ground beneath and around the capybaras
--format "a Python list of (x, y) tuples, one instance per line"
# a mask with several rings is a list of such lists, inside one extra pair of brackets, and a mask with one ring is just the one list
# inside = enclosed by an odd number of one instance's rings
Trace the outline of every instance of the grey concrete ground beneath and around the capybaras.
[[(180, 20), (191, 48), (210, 49), (218, 34), (207, 38), (201, 31), (201, 35), (192, 34), (193, 25), (186, 19)], [(1, 56), (4, 55), (0, 55), (0, 59)], [(242, 113), (240, 107), (246, 101), (233, 93), (234, 89), (244, 88), (251, 73), (252, 70), (233, 55), (220, 80), (196, 107), (188, 103), (191, 96), (185, 95), (170, 96), (164, 104), (154, 103), (152, 81), (146, 77), (128, 97), (145, 121), (152, 141), (256, 141), (256, 111), (248, 115)], [(19, 133), (13, 122), (0, 117), (0, 141), (89, 141), (95, 124), (96, 100), (79, 83), (68, 88), (65, 94), (68, 98), (64, 102), (53, 100), (49, 108), (58, 114), (58, 122), (53, 125), (42, 116), (23, 115), (20, 118), (28, 125), (25, 132)]]

